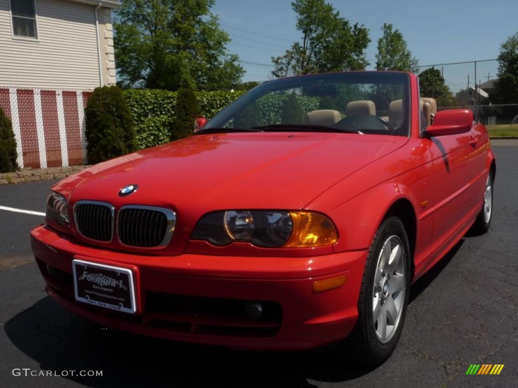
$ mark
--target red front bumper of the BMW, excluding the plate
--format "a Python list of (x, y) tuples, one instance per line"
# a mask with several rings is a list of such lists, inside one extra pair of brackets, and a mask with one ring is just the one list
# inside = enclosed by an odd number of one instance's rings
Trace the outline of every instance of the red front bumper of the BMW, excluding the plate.
[[(139, 334), (262, 350), (310, 349), (346, 337), (356, 322), (367, 255), (145, 256), (81, 245), (45, 226), (31, 232), (31, 243), (47, 292), (78, 315)], [(75, 301), (71, 262), (77, 258), (135, 268), (136, 314)], [(343, 286), (313, 292), (315, 281), (338, 276), (346, 276)], [(243, 316), (235, 308), (241, 302), (261, 302), (269, 313)]]

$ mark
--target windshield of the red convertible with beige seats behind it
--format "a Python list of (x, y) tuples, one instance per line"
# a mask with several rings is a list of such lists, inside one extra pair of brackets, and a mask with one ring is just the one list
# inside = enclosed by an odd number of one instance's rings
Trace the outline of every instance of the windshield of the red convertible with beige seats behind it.
[(409, 77), (343, 72), (268, 81), (203, 127), (212, 131), (336, 131), (409, 136)]

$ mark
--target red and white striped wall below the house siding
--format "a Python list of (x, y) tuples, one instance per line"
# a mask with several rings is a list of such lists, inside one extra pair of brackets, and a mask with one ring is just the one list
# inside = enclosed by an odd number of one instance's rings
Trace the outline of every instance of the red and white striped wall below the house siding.
[(0, 87), (0, 108), (11, 118), (20, 168), (77, 166), (85, 161), (84, 107), (91, 94)]

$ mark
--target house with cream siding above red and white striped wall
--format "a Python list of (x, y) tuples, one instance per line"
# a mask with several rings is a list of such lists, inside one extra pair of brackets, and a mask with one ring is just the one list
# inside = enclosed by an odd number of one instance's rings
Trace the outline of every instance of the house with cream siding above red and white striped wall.
[(111, 11), (118, 0), (0, 0), (0, 107), (21, 167), (81, 164), (83, 109), (116, 83)]

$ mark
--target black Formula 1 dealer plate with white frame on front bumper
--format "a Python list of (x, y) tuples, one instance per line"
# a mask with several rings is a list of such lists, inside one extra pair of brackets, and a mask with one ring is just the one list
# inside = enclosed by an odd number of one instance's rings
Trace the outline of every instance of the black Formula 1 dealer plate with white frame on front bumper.
[(132, 270), (78, 259), (72, 261), (72, 268), (76, 301), (134, 314)]

